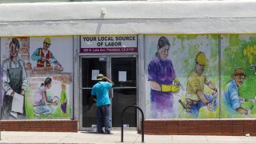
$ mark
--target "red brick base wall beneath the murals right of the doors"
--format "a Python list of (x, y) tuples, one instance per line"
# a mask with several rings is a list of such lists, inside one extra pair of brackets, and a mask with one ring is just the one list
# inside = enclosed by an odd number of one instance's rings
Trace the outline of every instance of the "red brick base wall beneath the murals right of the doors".
[(256, 136), (256, 119), (146, 120), (145, 134)]

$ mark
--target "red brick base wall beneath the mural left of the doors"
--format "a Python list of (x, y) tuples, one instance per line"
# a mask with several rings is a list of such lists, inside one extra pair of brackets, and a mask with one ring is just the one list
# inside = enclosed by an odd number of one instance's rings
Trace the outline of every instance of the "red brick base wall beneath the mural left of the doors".
[(59, 131), (78, 132), (76, 120), (50, 120), (50, 121), (1, 121), (2, 131)]

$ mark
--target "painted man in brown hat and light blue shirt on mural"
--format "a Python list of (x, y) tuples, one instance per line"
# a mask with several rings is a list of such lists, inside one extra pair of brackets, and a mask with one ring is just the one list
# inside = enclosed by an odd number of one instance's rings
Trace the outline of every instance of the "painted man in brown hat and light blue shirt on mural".
[(237, 114), (250, 114), (250, 109), (243, 109), (241, 107), (242, 98), (239, 95), (238, 87), (242, 86), (243, 81), (246, 79), (246, 74), (243, 72), (242, 67), (234, 69), (231, 74), (231, 80), (226, 85), (226, 90), (223, 96), (223, 103), (227, 106), (226, 118), (236, 118)]

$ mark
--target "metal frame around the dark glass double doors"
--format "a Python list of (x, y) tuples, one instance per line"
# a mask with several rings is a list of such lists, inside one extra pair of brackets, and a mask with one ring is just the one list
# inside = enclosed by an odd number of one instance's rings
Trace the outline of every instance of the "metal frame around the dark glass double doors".
[[(138, 54), (98, 54), (98, 55), (79, 55), (79, 74), (78, 74), (78, 84), (79, 84), (79, 99), (82, 99), (82, 90), (83, 89), (90, 89), (88, 87), (82, 87), (82, 58), (106, 58), (106, 76), (108, 78), (112, 78), (111, 74), (111, 58), (136, 58), (136, 103), (138, 104), (138, 84), (139, 84), (139, 79), (138, 79)], [(127, 88), (134, 88), (134, 87), (127, 87)], [(119, 89), (119, 88), (112, 88), (110, 90), (110, 97), (113, 97), (113, 90), (114, 89)], [(79, 130), (85, 130), (88, 131), (90, 130), (90, 127), (82, 127), (82, 100), (78, 103), (78, 109), (79, 109)], [(111, 117), (112, 117), (112, 109), (111, 109)], [(121, 118), (121, 115), (120, 115)], [(138, 123), (138, 116), (137, 116), (137, 127), (139, 125)]]

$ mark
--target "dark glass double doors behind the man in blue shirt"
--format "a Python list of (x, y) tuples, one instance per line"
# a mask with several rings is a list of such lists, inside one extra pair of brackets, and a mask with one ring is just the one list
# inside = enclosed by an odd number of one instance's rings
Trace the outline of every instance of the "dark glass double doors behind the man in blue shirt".
[[(137, 57), (135, 56), (95, 56), (81, 58), (81, 95), (82, 130), (91, 130), (96, 125), (95, 103), (90, 98), (94, 84), (94, 73), (104, 74), (114, 82), (110, 89), (112, 102), (112, 126), (120, 127), (122, 110), (126, 106), (137, 104)], [(137, 126), (137, 114), (134, 108), (126, 110), (124, 123)]]

